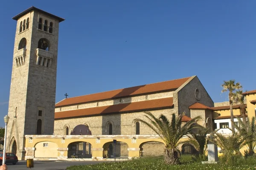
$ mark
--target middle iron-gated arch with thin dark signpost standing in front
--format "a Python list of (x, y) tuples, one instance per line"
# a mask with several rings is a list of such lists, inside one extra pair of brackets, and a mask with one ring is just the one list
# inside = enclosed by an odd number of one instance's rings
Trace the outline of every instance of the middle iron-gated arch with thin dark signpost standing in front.
[[(108, 142), (103, 145), (103, 158), (114, 158), (114, 143)], [(128, 144), (116, 142), (116, 159), (128, 158)]]

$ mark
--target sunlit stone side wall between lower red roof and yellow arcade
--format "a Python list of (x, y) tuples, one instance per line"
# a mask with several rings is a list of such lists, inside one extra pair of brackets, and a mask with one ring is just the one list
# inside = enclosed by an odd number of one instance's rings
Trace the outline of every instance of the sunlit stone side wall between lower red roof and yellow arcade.
[[(171, 114), (175, 113), (175, 109), (163, 109), (151, 111), (151, 113), (157, 117), (162, 113), (171, 119)], [(107, 125), (111, 122), (113, 125), (113, 135), (134, 135), (135, 129), (132, 122), (135, 118), (145, 119), (144, 114), (144, 112), (136, 112), (55, 120), (54, 134), (64, 135), (65, 127), (69, 127), (70, 134), (71, 130), (77, 125), (88, 125), (93, 135), (106, 135), (108, 132)], [(140, 134), (155, 133), (149, 127), (140, 123)]]

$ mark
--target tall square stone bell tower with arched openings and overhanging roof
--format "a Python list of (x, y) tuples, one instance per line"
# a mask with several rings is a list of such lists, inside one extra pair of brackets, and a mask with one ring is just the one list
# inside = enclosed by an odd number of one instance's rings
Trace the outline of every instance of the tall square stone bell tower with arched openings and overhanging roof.
[(24, 159), (24, 135), (53, 133), (58, 31), (64, 19), (34, 6), (12, 19), (17, 27), (6, 150)]

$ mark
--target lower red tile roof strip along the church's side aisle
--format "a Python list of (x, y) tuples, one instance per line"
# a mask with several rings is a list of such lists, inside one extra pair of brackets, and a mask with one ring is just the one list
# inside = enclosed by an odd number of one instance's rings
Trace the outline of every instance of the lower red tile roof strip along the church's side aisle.
[(163, 98), (163, 99), (154, 99), (154, 100), (145, 100), (142, 102), (132, 102), (132, 103), (123, 103), (110, 106), (94, 107), (94, 108), (84, 108), (71, 111), (60, 111), (55, 112), (55, 119), (64, 119), (70, 117), (79, 117), (79, 116), (92, 116), (92, 115), (101, 115), (106, 113), (128, 113), (136, 111), (145, 111), (145, 110), (154, 110), (154, 109), (163, 109), (171, 108), (173, 106), (172, 97)]

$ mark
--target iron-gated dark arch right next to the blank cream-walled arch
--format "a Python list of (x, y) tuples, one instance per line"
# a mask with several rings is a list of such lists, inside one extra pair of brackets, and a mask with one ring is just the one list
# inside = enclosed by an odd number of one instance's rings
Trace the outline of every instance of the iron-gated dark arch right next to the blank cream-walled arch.
[(68, 158), (92, 158), (92, 146), (88, 142), (73, 142), (68, 145)]

